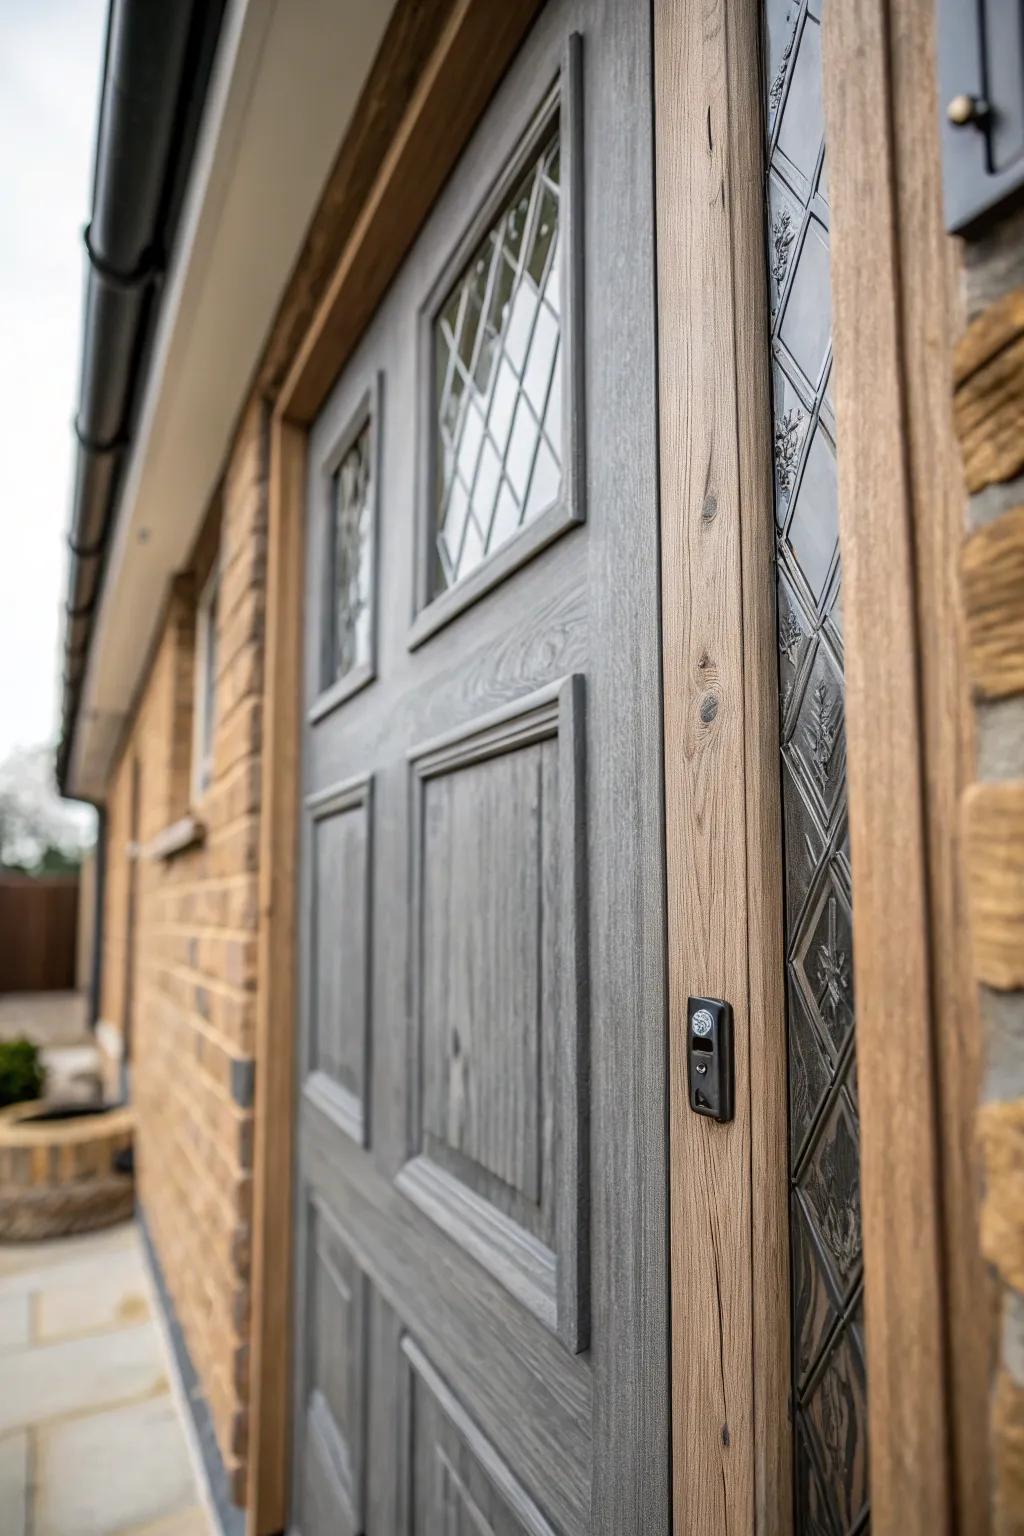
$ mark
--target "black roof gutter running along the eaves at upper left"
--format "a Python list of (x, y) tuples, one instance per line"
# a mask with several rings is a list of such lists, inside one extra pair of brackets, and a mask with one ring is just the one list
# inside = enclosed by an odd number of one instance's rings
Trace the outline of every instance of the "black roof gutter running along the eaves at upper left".
[(68, 533), (57, 780), (66, 790), (94, 614), (226, 0), (111, 0)]

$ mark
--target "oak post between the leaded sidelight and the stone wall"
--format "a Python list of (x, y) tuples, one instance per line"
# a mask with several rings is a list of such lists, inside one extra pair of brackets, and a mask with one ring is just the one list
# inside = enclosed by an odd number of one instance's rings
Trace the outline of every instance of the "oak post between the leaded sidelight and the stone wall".
[(906, 1536), (983, 1531), (989, 1510), (969, 1129), (981, 1031), (955, 860), (972, 756), (949, 406), (960, 298), (933, 49), (930, 0), (827, 8), (872, 1525)]

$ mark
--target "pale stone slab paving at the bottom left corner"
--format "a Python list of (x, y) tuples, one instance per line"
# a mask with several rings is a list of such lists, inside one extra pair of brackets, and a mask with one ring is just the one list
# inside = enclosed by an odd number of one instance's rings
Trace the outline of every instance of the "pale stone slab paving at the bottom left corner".
[(213, 1536), (129, 1223), (0, 1244), (2, 1536)]

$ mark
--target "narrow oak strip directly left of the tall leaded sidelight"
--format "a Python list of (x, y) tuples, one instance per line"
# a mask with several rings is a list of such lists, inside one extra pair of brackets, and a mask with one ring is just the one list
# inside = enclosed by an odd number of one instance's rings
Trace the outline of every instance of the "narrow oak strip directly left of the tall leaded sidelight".
[(765, 261), (763, 92), (754, 68), (757, 0), (726, 5), (735, 304), (743, 714), (746, 960), (751, 1029), (751, 1217), (754, 1303), (754, 1528), (792, 1522), (789, 1427), (789, 1189), (786, 997), (778, 771), (778, 630), (772, 515), (769, 315)]

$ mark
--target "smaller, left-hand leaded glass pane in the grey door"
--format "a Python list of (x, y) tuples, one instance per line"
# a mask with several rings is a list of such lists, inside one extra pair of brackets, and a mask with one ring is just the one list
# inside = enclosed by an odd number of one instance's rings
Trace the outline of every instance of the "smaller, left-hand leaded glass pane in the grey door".
[(370, 422), (332, 476), (329, 644), (324, 687), (370, 660), (373, 490)]

